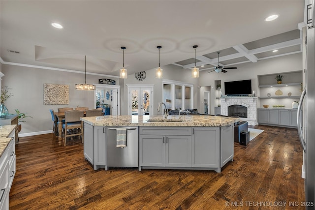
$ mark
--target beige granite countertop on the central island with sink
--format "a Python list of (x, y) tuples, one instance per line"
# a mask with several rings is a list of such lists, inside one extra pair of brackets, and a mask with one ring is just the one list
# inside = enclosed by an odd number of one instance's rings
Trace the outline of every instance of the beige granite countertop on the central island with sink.
[[(98, 116), (80, 118), (82, 121), (94, 126), (188, 126), (188, 127), (219, 127), (225, 126), (237, 121), (239, 118), (219, 117), (211, 115), (172, 115), (167, 117), (167, 122), (163, 120), (163, 116), (137, 116), (137, 115), (121, 115), (121, 116)], [(154, 120), (150, 122), (148, 120)], [(182, 120), (182, 121), (178, 121)]]

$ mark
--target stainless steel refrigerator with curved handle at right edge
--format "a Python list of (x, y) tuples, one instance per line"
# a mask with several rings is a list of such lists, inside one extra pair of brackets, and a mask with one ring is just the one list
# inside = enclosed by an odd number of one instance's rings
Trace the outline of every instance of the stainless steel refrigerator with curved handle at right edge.
[[(306, 209), (315, 205), (315, 16), (313, 5), (307, 6), (306, 57), (304, 62), (304, 90), (298, 107), (298, 133), (304, 150), (305, 198), (310, 202)], [(312, 8), (313, 7), (313, 8)]]

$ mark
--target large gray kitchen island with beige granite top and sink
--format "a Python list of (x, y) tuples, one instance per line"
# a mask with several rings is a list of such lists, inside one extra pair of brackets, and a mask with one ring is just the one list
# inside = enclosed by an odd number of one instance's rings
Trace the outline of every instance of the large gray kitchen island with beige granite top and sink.
[[(168, 116), (164, 120), (163, 116), (128, 115), (84, 117), (81, 120), (84, 122), (84, 156), (95, 170), (129, 167), (119, 161), (117, 165), (109, 164), (116, 152), (120, 153), (122, 161), (135, 158), (139, 171), (195, 169), (221, 172), (221, 168), (233, 160), (233, 126), (239, 118), (203, 115)], [(116, 136), (109, 135), (110, 132), (122, 127), (127, 128), (127, 147), (109, 148), (111, 141), (116, 142)], [(133, 133), (132, 137), (129, 133)], [(136, 155), (134, 151), (131, 155), (126, 150), (132, 142), (137, 143), (134, 147)]]

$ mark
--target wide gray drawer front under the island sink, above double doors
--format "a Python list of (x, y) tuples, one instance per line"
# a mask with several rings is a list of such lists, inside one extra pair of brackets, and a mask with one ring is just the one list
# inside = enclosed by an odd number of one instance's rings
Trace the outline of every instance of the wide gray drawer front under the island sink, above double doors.
[[(166, 122), (167, 123), (167, 122)], [(190, 127), (139, 127), (140, 135), (181, 135), (190, 136)]]

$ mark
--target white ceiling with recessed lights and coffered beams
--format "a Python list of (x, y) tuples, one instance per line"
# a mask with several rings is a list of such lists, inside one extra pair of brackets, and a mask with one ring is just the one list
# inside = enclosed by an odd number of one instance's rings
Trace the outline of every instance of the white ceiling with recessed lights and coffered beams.
[(158, 67), (158, 45), (161, 66), (191, 68), (198, 45), (208, 70), (217, 51), (225, 66), (300, 53), (303, 16), (304, 0), (1, 0), (0, 58), (84, 72), (86, 55), (88, 73), (118, 76), (122, 46), (131, 74)]

